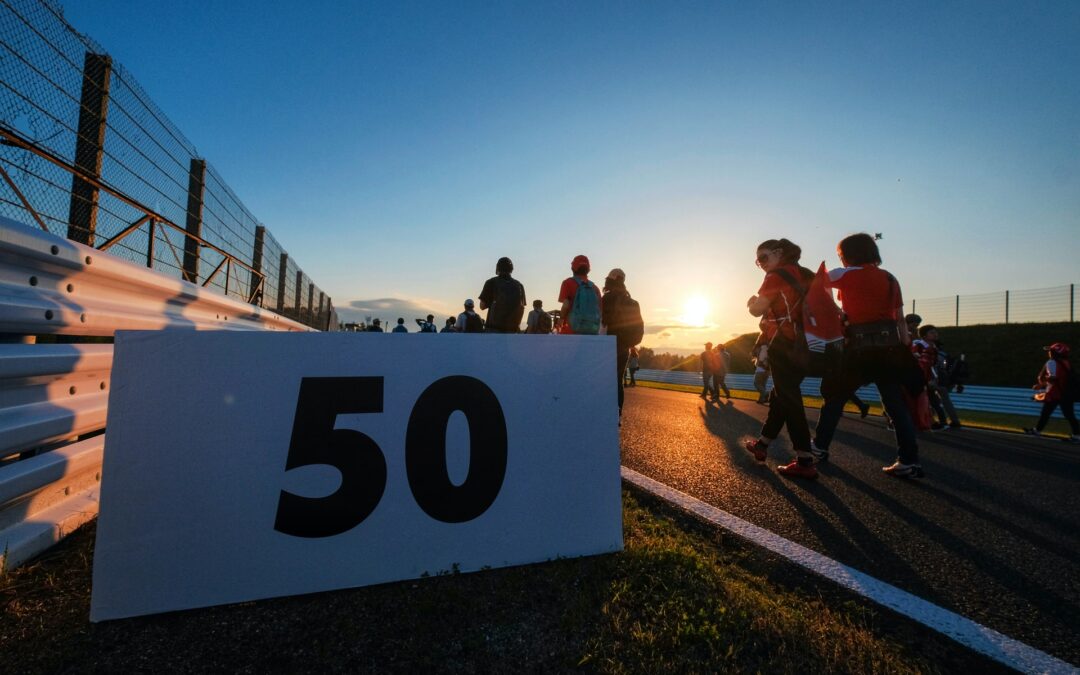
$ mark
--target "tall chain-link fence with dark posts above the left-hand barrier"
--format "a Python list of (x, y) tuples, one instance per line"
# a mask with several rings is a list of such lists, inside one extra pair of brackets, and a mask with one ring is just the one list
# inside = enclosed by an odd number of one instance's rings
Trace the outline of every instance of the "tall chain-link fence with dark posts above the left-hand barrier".
[(337, 326), (329, 298), (53, 0), (0, 0), (0, 214)]

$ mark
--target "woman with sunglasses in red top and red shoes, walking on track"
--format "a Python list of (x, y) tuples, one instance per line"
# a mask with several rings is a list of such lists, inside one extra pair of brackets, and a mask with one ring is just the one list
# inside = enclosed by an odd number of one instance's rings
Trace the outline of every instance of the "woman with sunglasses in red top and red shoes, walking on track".
[[(746, 301), (754, 316), (765, 318), (765, 339), (769, 345), (772, 366), (772, 392), (769, 415), (756, 441), (747, 441), (746, 449), (754, 459), (764, 462), (769, 444), (787, 427), (796, 458), (777, 468), (784, 476), (816, 478), (818, 470), (810, 454), (810, 428), (802, 408), (800, 384), (806, 366), (796, 351), (802, 336), (802, 296), (813, 280), (813, 272), (798, 265), (802, 249), (786, 239), (770, 239), (757, 247), (757, 266), (765, 270), (765, 281), (757, 295)], [(802, 345), (801, 349), (806, 346)]]

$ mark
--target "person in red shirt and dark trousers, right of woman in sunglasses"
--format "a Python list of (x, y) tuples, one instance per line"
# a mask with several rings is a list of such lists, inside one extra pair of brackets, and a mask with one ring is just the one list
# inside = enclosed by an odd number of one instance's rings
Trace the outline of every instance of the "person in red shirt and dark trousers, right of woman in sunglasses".
[(869, 234), (846, 237), (836, 249), (843, 267), (828, 276), (848, 318), (847, 357), (841, 374), (822, 382), (825, 404), (814, 430), (813, 455), (819, 460), (828, 458), (845, 402), (859, 387), (874, 382), (892, 419), (899, 448), (896, 461), (882, 471), (897, 477), (921, 477), (915, 423), (901, 389), (912, 373), (914, 356), (900, 284), (881, 269), (881, 254)]

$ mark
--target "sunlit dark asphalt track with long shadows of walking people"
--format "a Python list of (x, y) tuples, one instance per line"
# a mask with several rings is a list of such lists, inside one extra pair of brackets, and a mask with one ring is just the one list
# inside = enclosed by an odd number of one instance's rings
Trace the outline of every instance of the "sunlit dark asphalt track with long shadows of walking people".
[[(1080, 446), (980, 430), (923, 433), (927, 477), (892, 478), (892, 432), (846, 414), (816, 481), (742, 447), (768, 408), (626, 390), (622, 463), (1070, 663), (1080, 663)], [(816, 410), (808, 409), (811, 429)]]

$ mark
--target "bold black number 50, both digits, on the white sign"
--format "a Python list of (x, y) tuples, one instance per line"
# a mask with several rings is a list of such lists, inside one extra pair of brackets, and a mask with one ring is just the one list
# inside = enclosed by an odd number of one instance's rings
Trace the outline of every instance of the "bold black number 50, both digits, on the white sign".
[[(446, 426), (460, 410), (469, 421), (469, 475), (459, 486), (446, 470)], [(387, 487), (387, 461), (378, 444), (359, 431), (334, 429), (338, 415), (382, 411), (381, 377), (306, 377), (300, 381), (285, 470), (328, 464), (341, 486), (326, 497), (285, 490), (274, 529), (294, 537), (333, 537), (360, 525)], [(487, 384), (445, 377), (420, 394), (409, 416), (405, 469), (417, 504), (444, 523), (471, 521), (499, 495), (507, 473), (507, 421)]]

